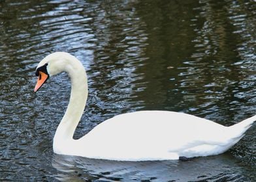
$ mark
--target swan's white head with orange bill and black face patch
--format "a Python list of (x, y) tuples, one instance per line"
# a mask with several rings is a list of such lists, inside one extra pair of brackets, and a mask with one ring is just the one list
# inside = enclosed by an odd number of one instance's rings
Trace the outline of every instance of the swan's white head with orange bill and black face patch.
[(42, 59), (35, 71), (35, 75), (38, 79), (34, 92), (37, 92), (37, 90), (46, 83), (49, 77), (65, 71), (65, 66), (67, 65), (69, 57), (72, 57), (69, 53), (56, 52)]

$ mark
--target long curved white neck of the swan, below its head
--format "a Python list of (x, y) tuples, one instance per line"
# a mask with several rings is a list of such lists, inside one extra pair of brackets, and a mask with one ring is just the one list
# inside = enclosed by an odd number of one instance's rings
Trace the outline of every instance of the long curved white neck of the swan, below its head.
[(74, 131), (80, 121), (88, 97), (87, 75), (82, 63), (75, 57), (65, 57), (64, 72), (71, 78), (71, 97), (67, 110), (54, 135), (54, 149), (63, 142), (73, 140)]

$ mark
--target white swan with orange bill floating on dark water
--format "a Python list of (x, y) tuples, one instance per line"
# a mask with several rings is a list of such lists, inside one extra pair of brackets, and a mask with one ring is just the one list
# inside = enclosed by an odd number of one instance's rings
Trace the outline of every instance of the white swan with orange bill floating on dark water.
[(120, 114), (78, 140), (74, 131), (88, 97), (86, 71), (69, 53), (57, 52), (37, 66), (35, 92), (48, 77), (67, 72), (71, 77), (69, 105), (54, 136), (54, 153), (118, 161), (172, 160), (217, 155), (238, 142), (256, 116), (225, 127), (189, 114), (146, 110)]

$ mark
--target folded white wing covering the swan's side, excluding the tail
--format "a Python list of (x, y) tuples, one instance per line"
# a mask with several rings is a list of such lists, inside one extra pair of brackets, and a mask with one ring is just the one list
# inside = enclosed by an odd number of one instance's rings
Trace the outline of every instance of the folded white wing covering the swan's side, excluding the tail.
[[(225, 127), (210, 120), (170, 111), (120, 114), (97, 125), (80, 138), (86, 153), (106, 158), (177, 158), (178, 153), (202, 145), (225, 143)], [(104, 152), (103, 152), (104, 151)], [(120, 156), (122, 155), (122, 156)], [(136, 155), (136, 156), (135, 156)], [(150, 158), (150, 159), (151, 159)], [(157, 159), (158, 159), (157, 158)]]

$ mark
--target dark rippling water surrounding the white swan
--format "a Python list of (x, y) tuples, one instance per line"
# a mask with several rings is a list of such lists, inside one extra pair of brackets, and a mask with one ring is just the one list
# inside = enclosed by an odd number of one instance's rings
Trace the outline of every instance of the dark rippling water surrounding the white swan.
[(256, 181), (255, 125), (225, 154), (187, 162), (61, 156), (69, 79), (33, 93), (38, 62), (67, 51), (89, 82), (74, 138), (135, 110), (232, 125), (255, 114), (255, 15), (254, 1), (0, 1), (0, 180)]

